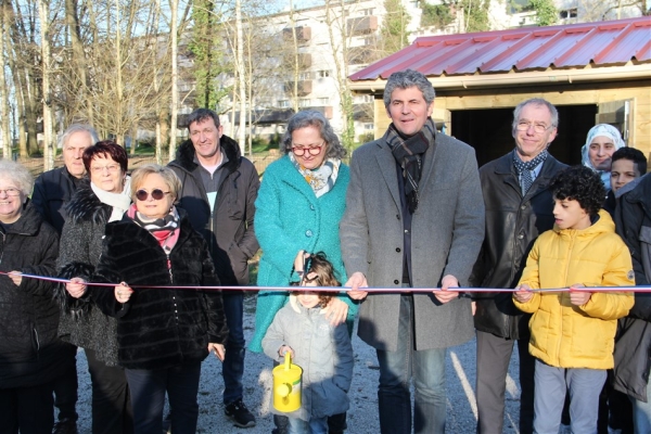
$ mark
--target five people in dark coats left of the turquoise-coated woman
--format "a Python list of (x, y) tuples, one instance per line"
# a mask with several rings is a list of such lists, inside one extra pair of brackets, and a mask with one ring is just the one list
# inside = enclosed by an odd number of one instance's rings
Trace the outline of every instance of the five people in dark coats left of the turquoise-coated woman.
[(77, 348), (93, 434), (194, 433), (210, 353), (224, 362), (225, 413), (255, 425), (243, 294), (218, 288), (248, 283), (259, 178), (214, 112), (195, 111), (189, 131), (167, 167), (130, 176), (125, 149), (84, 125), (62, 136), (64, 166), (36, 183), (0, 162), (0, 433), (77, 433)]

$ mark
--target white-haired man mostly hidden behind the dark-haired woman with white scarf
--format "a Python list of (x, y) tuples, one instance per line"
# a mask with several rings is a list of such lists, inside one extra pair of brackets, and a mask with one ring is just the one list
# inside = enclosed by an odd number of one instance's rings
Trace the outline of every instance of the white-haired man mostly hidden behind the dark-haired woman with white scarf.
[[(73, 124), (61, 137), (63, 167), (41, 174), (34, 183), (31, 203), (43, 219), (61, 234), (65, 222), (65, 204), (72, 199), (77, 182), (86, 175), (81, 156), (86, 148), (99, 141), (95, 130), (88, 125)], [(54, 384), (55, 405), (59, 421), (53, 434), (75, 434), (77, 432), (77, 347), (64, 344), (63, 354), (67, 369)]]

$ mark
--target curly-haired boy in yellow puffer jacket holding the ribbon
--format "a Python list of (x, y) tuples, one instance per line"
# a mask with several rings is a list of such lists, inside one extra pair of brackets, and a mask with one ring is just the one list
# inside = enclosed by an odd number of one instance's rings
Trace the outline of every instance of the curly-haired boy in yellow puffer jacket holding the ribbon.
[[(569, 167), (549, 188), (554, 227), (536, 240), (513, 293), (515, 306), (533, 314), (534, 431), (558, 434), (569, 390), (572, 432), (592, 434), (605, 371), (614, 363), (617, 318), (628, 314), (634, 298), (629, 292), (585, 289), (631, 286), (633, 265), (613, 220), (601, 209), (605, 189), (596, 173)], [(570, 291), (536, 291), (561, 288)]]

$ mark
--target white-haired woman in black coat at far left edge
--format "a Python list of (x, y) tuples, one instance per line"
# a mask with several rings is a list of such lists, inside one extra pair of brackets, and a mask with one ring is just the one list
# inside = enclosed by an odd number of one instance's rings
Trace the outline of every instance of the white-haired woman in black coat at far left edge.
[(29, 171), (0, 161), (0, 432), (50, 434), (52, 392), (65, 348), (56, 336), (52, 284), (22, 276), (52, 276), (56, 231), (28, 200)]

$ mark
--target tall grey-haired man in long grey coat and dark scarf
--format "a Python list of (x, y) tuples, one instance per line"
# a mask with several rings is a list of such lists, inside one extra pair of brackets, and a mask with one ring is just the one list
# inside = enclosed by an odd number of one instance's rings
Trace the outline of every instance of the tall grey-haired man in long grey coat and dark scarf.
[[(340, 226), (350, 297), (362, 301), (358, 334), (380, 362), (382, 433), (443, 433), (446, 348), (473, 336), (468, 278), (484, 239), (484, 201), (471, 146), (437, 132), (424, 75), (392, 74), (392, 125), (355, 151)], [(367, 292), (363, 286), (392, 289)], [(411, 292), (410, 288), (432, 289)]]

